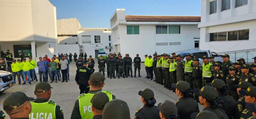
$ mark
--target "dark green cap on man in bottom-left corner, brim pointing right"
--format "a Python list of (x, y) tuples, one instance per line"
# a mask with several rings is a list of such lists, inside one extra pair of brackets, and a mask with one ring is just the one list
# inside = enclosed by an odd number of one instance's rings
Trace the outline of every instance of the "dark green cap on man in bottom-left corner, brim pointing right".
[(5, 111), (16, 109), (26, 101), (32, 101), (32, 100), (34, 100), (33, 97), (28, 97), (25, 93), (21, 91), (16, 91), (4, 99), (3, 109)]

